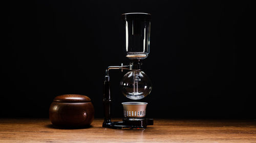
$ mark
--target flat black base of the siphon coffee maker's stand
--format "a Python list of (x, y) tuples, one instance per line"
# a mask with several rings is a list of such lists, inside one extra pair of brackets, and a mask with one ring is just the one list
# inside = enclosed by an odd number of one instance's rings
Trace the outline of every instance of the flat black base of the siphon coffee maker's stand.
[(124, 118), (123, 121), (120, 121), (120, 122), (111, 122), (111, 123), (103, 122), (102, 127), (113, 128), (113, 129), (123, 129), (123, 128), (145, 129), (147, 125), (153, 125), (153, 124), (154, 124), (153, 119), (143, 118), (138, 120), (129, 120), (128, 118)]

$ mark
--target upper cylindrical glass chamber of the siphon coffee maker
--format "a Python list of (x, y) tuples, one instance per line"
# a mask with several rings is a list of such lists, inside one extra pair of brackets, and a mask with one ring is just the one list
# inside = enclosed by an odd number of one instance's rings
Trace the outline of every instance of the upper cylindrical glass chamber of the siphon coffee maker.
[(145, 59), (150, 53), (150, 20), (148, 13), (122, 14), (125, 21), (125, 50), (126, 57)]

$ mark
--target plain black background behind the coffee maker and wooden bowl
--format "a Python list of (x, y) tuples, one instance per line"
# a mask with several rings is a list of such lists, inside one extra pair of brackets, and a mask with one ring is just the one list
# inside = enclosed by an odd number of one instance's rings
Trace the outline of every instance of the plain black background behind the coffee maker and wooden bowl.
[[(153, 118), (256, 118), (251, 1), (9, 1), (1, 48), (0, 117), (48, 118), (61, 94), (92, 99), (102, 118), (105, 68), (128, 64), (127, 12), (152, 14)], [(253, 40), (252, 40), (253, 39)], [(113, 117), (122, 117), (125, 72), (111, 71)]]

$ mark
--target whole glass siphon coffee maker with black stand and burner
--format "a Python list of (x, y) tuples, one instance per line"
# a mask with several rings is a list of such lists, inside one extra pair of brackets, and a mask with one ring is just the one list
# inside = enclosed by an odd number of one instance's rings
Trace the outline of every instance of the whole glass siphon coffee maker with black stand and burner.
[(122, 94), (132, 100), (138, 100), (151, 93), (152, 82), (141, 70), (142, 60), (150, 52), (150, 23), (151, 14), (125, 13), (121, 15), (125, 22), (125, 51), (126, 57), (131, 60), (130, 65), (110, 66), (106, 69), (103, 93), (104, 122), (102, 127), (123, 129), (145, 129), (153, 125), (153, 119), (145, 118), (146, 102), (123, 102), (123, 121), (111, 121), (111, 94), (109, 70), (129, 70), (121, 79)]

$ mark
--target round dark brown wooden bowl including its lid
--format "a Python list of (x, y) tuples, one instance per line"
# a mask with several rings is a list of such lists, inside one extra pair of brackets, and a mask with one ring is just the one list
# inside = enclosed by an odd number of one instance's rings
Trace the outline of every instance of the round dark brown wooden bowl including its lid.
[(84, 95), (60, 95), (54, 98), (49, 118), (53, 125), (60, 127), (85, 127), (94, 120), (91, 99)]

